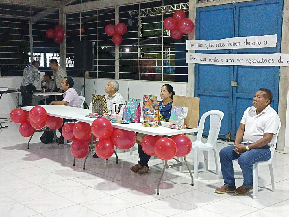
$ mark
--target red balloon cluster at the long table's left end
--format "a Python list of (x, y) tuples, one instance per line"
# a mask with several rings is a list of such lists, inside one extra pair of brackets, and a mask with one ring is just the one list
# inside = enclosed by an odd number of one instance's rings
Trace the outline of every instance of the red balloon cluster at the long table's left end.
[(58, 129), (63, 124), (63, 118), (47, 115), (45, 108), (41, 106), (34, 106), (30, 112), (13, 109), (10, 119), (14, 123), (21, 123), (19, 132), (24, 137), (32, 136), (35, 129), (42, 129), (45, 125), (50, 129)]

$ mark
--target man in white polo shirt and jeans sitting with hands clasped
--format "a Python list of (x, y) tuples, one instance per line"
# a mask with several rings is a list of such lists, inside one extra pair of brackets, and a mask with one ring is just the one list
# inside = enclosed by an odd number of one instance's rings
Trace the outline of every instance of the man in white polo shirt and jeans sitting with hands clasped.
[[(280, 123), (277, 112), (270, 106), (271, 102), (270, 90), (261, 88), (255, 93), (253, 106), (244, 112), (234, 144), (220, 151), (224, 185), (216, 188), (215, 193), (243, 195), (253, 190), (253, 164), (270, 159), (270, 147)], [(238, 159), (244, 176), (244, 183), (239, 188), (235, 186), (234, 159)]]

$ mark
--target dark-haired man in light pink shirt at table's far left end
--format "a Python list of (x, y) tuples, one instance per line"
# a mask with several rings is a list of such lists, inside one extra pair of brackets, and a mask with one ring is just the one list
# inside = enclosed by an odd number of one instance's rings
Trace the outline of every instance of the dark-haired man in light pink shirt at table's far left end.
[[(66, 105), (71, 107), (81, 107), (80, 99), (77, 94), (77, 92), (73, 88), (73, 79), (71, 77), (64, 77), (64, 79), (61, 82), (61, 89), (64, 90), (63, 94), (63, 100), (61, 101), (52, 101), (49, 103), (49, 105)], [(65, 122), (71, 121), (70, 119), (63, 118), (63, 125)], [(58, 129), (58, 131), (61, 133), (62, 127)], [(64, 138), (61, 135), (60, 138), (58, 138), (59, 143), (64, 143)]]

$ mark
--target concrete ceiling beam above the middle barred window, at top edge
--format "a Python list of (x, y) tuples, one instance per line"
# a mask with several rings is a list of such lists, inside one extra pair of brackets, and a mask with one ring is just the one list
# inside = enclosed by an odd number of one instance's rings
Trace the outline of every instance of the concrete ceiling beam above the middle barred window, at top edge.
[(136, 4), (136, 3), (145, 3), (155, 0), (98, 0), (98, 1), (89, 1), (77, 5), (68, 5), (64, 6), (64, 14), (71, 14), (75, 12), (96, 10), (101, 8), (114, 8), (115, 6)]

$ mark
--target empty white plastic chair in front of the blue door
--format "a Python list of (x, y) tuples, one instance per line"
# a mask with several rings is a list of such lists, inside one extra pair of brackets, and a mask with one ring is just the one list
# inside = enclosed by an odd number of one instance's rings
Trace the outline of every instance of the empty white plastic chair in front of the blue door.
[[(205, 159), (205, 169), (208, 170), (208, 158), (209, 151), (214, 151), (215, 163), (216, 163), (216, 174), (218, 175), (218, 159), (217, 159), (217, 139), (221, 128), (221, 121), (224, 117), (224, 113), (219, 110), (211, 110), (205, 112), (202, 115), (199, 123), (199, 127), (204, 127), (206, 118), (210, 116), (210, 129), (209, 136), (206, 143), (201, 142), (203, 135), (203, 130), (199, 131), (197, 134), (197, 140), (192, 142), (192, 149), (194, 150), (194, 179), (198, 179), (198, 170), (199, 170), (199, 151), (203, 151)], [(182, 161), (182, 158), (181, 158)], [(180, 171), (181, 168), (180, 168)]]

